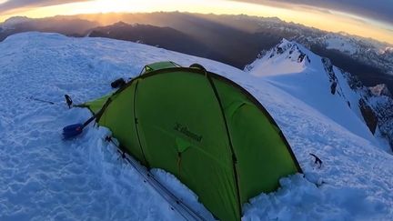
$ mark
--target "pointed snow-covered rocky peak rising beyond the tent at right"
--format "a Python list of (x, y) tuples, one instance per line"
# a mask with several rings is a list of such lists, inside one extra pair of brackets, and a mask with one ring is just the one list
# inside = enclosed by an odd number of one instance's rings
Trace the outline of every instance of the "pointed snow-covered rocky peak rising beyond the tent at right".
[(246, 66), (358, 136), (375, 136), (393, 150), (393, 96), (386, 85), (368, 88), (303, 45), (283, 40)]

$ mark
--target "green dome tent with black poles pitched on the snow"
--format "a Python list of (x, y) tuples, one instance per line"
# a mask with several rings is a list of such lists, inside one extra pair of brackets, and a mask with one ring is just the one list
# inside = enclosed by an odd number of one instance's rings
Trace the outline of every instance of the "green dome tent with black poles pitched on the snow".
[(121, 148), (175, 175), (221, 220), (239, 220), (249, 198), (301, 173), (273, 118), (240, 85), (201, 65), (163, 64), (85, 104)]

